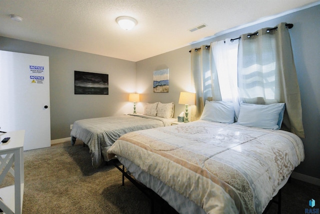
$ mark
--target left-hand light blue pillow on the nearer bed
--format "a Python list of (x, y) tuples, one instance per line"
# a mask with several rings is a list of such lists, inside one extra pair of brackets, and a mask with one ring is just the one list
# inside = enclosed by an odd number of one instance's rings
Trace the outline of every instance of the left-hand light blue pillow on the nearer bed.
[(219, 123), (234, 122), (234, 107), (230, 102), (224, 101), (207, 101), (205, 100), (204, 108), (200, 117), (201, 120), (208, 120)]

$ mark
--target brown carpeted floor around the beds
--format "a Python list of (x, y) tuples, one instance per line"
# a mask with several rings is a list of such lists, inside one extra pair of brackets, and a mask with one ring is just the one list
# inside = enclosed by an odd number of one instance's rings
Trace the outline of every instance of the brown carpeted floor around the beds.
[[(150, 200), (113, 165), (95, 169), (87, 147), (77, 141), (24, 151), (22, 213), (150, 213)], [(0, 185), (13, 184), (7, 175)], [(282, 189), (282, 213), (305, 213), (308, 200), (319, 208), (320, 186), (291, 179)], [(156, 213), (160, 206), (155, 204)], [(276, 213), (272, 204), (267, 213)]]

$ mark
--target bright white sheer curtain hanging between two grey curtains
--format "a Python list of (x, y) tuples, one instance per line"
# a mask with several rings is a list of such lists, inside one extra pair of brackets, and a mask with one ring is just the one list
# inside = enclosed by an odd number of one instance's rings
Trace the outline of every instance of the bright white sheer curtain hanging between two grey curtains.
[(230, 39), (211, 43), (212, 71), (216, 71), (222, 101), (233, 102), (236, 118), (239, 112), (237, 98), (237, 55), (238, 40)]

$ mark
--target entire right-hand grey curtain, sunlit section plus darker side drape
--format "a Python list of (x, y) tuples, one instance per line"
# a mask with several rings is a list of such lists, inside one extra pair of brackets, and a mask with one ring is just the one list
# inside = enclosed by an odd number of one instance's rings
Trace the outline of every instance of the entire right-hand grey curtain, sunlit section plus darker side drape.
[(283, 124), (304, 137), (300, 91), (297, 82), (288, 29), (261, 29), (257, 34), (241, 35), (238, 48), (238, 98), (245, 103), (286, 106)]

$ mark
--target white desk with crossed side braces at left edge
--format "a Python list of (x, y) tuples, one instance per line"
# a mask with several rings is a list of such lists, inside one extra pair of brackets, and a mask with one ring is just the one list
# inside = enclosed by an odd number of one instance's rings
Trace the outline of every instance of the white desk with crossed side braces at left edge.
[[(10, 137), (6, 143), (0, 143), (0, 184), (10, 172), (14, 176), (14, 185), (0, 188), (0, 208), (6, 213), (22, 213), (24, 188), (23, 141), (24, 130), (0, 133), (0, 142)], [(14, 163), (14, 168), (12, 168)]]

